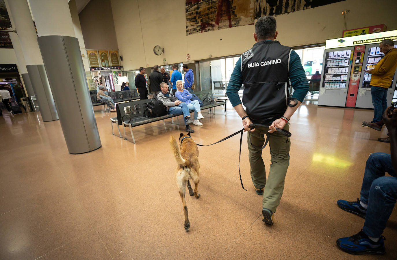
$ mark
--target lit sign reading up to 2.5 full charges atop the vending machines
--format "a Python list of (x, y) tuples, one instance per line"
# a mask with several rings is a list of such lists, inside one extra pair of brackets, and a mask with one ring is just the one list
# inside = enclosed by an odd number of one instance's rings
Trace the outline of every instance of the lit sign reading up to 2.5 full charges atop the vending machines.
[(333, 49), (333, 48), (349, 47), (349, 46), (362, 45), (362, 44), (364, 45), (374, 44), (374, 43), (380, 43), (384, 39), (391, 39), (393, 41), (396, 41), (397, 30), (350, 36), (345, 38), (330, 39), (330, 40), (326, 40), (325, 48)]

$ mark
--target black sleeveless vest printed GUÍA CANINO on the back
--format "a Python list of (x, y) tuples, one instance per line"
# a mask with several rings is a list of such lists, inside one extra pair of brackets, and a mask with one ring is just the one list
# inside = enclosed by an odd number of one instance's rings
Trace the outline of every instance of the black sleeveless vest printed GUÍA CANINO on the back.
[(241, 55), (243, 104), (254, 123), (280, 117), (287, 109), (291, 50), (278, 41), (262, 41)]

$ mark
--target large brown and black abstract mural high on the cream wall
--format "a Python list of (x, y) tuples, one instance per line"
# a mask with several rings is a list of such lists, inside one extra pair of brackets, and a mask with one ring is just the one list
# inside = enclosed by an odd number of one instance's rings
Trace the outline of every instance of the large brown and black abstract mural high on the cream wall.
[(345, 0), (186, 0), (186, 35), (253, 25), (264, 15), (280, 15)]

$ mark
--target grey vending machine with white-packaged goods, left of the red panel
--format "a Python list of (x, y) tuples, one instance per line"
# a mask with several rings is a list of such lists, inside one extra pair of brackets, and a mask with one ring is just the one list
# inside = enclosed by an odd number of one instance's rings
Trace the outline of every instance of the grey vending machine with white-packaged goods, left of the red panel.
[(324, 50), (319, 106), (345, 106), (353, 47)]

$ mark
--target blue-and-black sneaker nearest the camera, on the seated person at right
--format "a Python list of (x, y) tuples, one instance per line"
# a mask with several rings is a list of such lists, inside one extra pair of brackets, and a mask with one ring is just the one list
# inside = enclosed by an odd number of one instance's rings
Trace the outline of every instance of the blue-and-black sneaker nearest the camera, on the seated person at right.
[(351, 237), (342, 237), (336, 244), (349, 254), (384, 254), (385, 237), (380, 236), (378, 242), (372, 241), (362, 230)]

